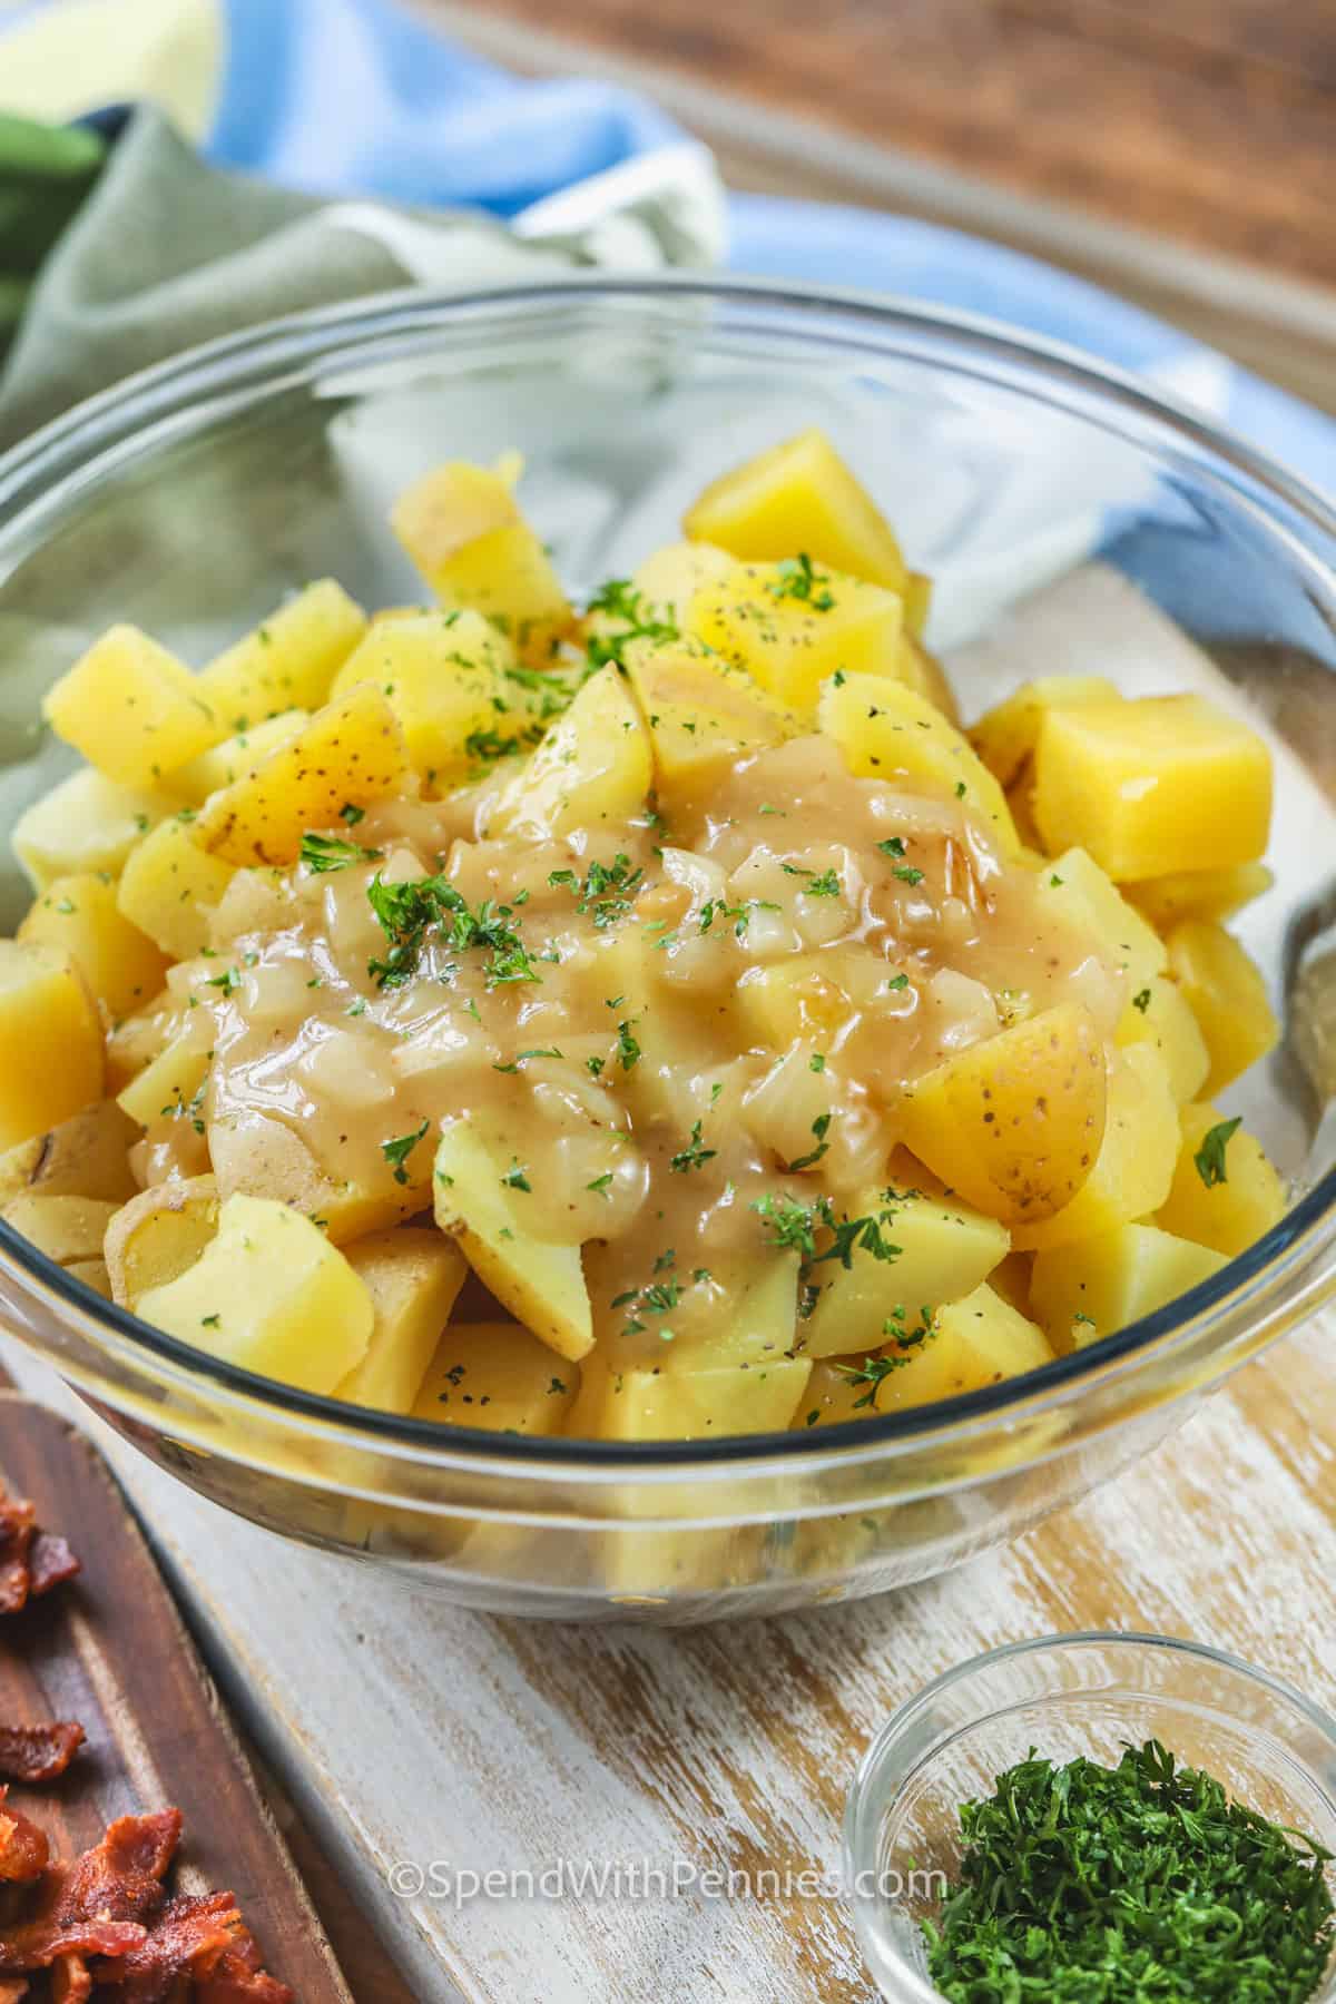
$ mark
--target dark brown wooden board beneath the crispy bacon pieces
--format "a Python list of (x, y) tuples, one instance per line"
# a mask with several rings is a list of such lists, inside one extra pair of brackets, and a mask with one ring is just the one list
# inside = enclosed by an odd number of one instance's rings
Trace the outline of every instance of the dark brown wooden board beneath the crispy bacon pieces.
[[(182, 1890), (226, 1888), (300, 2004), (355, 2004), (176, 1605), (106, 1463), (56, 1413), (0, 1393), (0, 1475), (84, 1571), (0, 1621), (0, 1719), (78, 1719), (88, 1743), (10, 1800), (78, 1852), (114, 1816), (176, 1804)], [(381, 1992), (367, 1992), (367, 2000)]]

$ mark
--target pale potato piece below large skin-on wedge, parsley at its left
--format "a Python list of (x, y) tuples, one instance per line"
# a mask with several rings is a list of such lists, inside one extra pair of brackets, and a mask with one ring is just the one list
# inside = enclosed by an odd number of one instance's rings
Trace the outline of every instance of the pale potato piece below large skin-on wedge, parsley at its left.
[(863, 1190), (851, 1214), (863, 1212), (889, 1212), (883, 1238), (899, 1252), (893, 1261), (879, 1261), (855, 1250), (847, 1269), (839, 1261), (811, 1269), (809, 1285), (819, 1293), (815, 1309), (799, 1323), (797, 1349), (803, 1357), (881, 1349), (905, 1315), (917, 1321), (923, 1307), (937, 1309), (971, 1295), (1012, 1244), (995, 1218), (951, 1198), (913, 1194), (887, 1202), (885, 1192)]

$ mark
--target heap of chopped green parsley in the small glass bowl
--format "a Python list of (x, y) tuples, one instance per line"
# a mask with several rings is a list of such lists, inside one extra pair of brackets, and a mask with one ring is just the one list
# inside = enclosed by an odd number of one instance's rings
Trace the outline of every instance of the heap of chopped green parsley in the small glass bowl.
[(1336, 1940), (1330, 1852), (1158, 1739), (1116, 1768), (1036, 1751), (959, 1808), (921, 1922), (949, 2004), (1302, 2004)]

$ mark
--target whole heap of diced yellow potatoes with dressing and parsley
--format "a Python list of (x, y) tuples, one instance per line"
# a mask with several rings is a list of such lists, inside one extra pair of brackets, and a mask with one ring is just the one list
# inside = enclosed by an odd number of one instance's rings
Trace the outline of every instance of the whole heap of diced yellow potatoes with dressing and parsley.
[(1286, 1208), (1222, 1094), (1266, 743), (1052, 673), (963, 727), (929, 579), (817, 431), (567, 597), (519, 459), (50, 689), (0, 1206), (196, 1351), (443, 1427), (857, 1423), (1098, 1343)]

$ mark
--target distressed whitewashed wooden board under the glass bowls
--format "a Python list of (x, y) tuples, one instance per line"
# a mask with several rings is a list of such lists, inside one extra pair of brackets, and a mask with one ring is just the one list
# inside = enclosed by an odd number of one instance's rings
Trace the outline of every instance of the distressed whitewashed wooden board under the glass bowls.
[[(66, 1399), (8, 1351), (30, 1387)], [(389, 1868), (833, 1868), (849, 1778), (889, 1709), (961, 1657), (1050, 1629), (1194, 1635), (1336, 1707), (1334, 1353), (1326, 1317), (1118, 1483), (945, 1579), (695, 1631), (415, 1599), (196, 1501), (84, 1419), (246, 1727), (423, 2004), (861, 2004), (873, 1992), (837, 1900), (455, 1912), (395, 1900)]]

